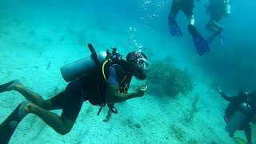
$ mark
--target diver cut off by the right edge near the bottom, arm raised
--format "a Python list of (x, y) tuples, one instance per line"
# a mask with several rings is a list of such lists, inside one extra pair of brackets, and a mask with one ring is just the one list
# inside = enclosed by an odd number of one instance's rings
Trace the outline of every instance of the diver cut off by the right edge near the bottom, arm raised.
[(224, 120), (226, 122), (225, 130), (229, 133), (231, 138), (234, 137), (237, 130), (244, 130), (246, 134), (247, 143), (251, 144), (251, 127), (250, 122), (254, 122), (256, 118), (256, 90), (250, 92), (240, 92), (238, 96), (229, 97), (222, 92), (220, 88), (219, 93), (222, 98), (230, 102), (225, 110)]

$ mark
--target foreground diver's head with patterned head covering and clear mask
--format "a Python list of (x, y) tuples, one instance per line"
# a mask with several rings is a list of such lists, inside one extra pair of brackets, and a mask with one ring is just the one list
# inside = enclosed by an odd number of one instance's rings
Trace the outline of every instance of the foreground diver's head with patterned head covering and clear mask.
[(130, 52), (126, 55), (126, 62), (130, 65), (130, 72), (138, 79), (145, 79), (145, 71), (150, 69), (151, 62), (141, 50)]

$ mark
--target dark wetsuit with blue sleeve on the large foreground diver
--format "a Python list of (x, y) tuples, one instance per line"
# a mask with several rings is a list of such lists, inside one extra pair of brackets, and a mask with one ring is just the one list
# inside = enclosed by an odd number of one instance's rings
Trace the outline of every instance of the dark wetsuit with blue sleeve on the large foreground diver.
[[(107, 83), (113, 83), (119, 86), (122, 81), (121, 75), (114, 69), (114, 66), (110, 66)], [(75, 122), (81, 110), (82, 103), (86, 100), (89, 100), (91, 104), (96, 106), (102, 104), (102, 102), (106, 102), (105, 94), (100, 94), (102, 91), (98, 90), (98, 83), (95, 81), (95, 78), (97, 78), (96, 74), (95, 76), (90, 76), (90, 78), (74, 80), (66, 86), (66, 90), (50, 99), (54, 106), (62, 109), (62, 117), (69, 118)]]

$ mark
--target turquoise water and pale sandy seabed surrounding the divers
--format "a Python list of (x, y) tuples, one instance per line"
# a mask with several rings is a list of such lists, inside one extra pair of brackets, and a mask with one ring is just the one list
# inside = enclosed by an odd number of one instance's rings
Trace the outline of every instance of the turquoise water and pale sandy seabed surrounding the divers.
[[(205, 3), (195, 2), (194, 11), (198, 30), (208, 37)], [(177, 18), (184, 38), (170, 36), (170, 5), (166, 0), (2, 0), (1, 83), (18, 78), (43, 98), (51, 98), (66, 87), (59, 68), (90, 54), (89, 42), (97, 50), (117, 46), (124, 55), (143, 50), (152, 61), (171, 57), (173, 65), (186, 70), (194, 82), (193, 90), (174, 98), (150, 93), (117, 104), (119, 113), (110, 122), (102, 122), (106, 108), (97, 116), (98, 107), (85, 102), (73, 129), (64, 136), (29, 114), (10, 143), (234, 143), (224, 130), (227, 103), (216, 88), (221, 85), (230, 94), (255, 89), (255, 2), (232, 1), (231, 17), (220, 22), (225, 26), (225, 45), (214, 41), (211, 52), (202, 57), (186, 30), (184, 14)], [(137, 83), (134, 80), (132, 86)], [(0, 122), (22, 100), (15, 91), (0, 94)], [(238, 136), (245, 138), (242, 132)]]

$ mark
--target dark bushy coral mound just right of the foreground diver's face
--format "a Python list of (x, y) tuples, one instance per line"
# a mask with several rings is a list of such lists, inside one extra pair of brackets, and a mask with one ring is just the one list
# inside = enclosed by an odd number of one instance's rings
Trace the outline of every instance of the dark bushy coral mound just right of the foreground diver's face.
[(154, 60), (147, 73), (146, 82), (149, 86), (149, 94), (165, 94), (170, 97), (175, 97), (179, 93), (186, 94), (194, 87), (192, 78), (186, 70), (178, 69), (170, 58), (162, 61)]

